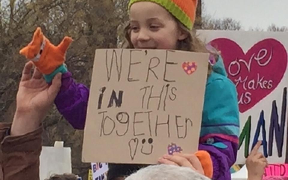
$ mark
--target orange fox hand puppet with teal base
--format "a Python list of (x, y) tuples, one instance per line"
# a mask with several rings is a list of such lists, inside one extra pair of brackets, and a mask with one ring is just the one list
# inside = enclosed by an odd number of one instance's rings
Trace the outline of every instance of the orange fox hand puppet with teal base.
[(71, 42), (70, 37), (65, 37), (58, 46), (54, 46), (43, 35), (41, 28), (38, 27), (32, 41), (20, 50), (20, 54), (32, 61), (38, 70), (43, 73), (46, 82), (50, 83), (57, 73), (67, 72), (64, 61)]

